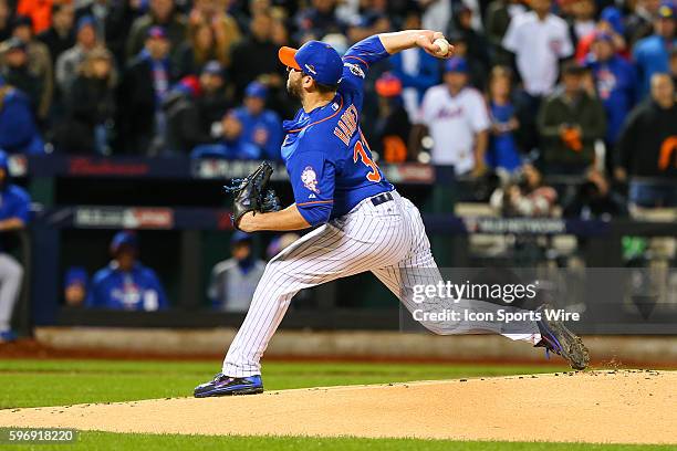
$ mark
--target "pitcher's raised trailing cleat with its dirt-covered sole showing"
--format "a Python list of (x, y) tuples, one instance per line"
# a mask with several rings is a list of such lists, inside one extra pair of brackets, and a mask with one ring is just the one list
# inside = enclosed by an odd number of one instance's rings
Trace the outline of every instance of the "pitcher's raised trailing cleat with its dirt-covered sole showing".
[(561, 321), (549, 321), (543, 313), (551, 308), (548, 304), (541, 305), (537, 312), (541, 313), (541, 319), (537, 322), (541, 332), (541, 340), (535, 347), (544, 347), (545, 355), (553, 352), (562, 356), (573, 369), (585, 369), (590, 364), (590, 355), (583, 340), (566, 328)]

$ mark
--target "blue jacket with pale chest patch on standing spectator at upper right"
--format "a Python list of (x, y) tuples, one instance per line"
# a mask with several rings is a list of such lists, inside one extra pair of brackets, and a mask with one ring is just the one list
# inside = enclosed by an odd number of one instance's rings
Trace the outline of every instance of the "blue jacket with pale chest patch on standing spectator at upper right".
[(615, 143), (625, 116), (635, 105), (637, 73), (631, 63), (618, 55), (606, 62), (590, 61), (587, 66), (606, 112), (606, 140)]

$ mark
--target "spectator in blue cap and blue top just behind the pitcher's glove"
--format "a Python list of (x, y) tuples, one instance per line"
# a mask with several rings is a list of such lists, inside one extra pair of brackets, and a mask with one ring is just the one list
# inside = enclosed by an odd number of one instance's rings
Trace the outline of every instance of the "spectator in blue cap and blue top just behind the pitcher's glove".
[(261, 149), (261, 158), (279, 160), (282, 144), (282, 120), (278, 113), (265, 108), (268, 88), (251, 82), (244, 90), (244, 105), (236, 108), (235, 117), (242, 124), (242, 139)]

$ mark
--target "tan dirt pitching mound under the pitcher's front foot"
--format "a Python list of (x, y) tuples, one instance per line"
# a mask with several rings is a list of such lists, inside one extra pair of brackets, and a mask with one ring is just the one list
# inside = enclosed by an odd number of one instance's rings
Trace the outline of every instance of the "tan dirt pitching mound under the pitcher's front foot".
[(618, 370), (0, 411), (0, 427), (677, 443), (677, 373)]

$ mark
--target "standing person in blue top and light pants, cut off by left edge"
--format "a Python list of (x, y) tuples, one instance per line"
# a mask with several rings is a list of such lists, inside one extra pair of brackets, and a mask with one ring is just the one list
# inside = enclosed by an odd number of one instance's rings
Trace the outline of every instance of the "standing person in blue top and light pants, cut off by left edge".
[[(9, 178), (7, 154), (0, 149), (0, 232), (21, 230), (29, 221), (31, 198)], [(4, 235), (1, 233), (0, 235)], [(10, 327), (12, 311), (19, 298), (23, 268), (0, 242), (0, 343), (12, 342), (17, 335)]]

